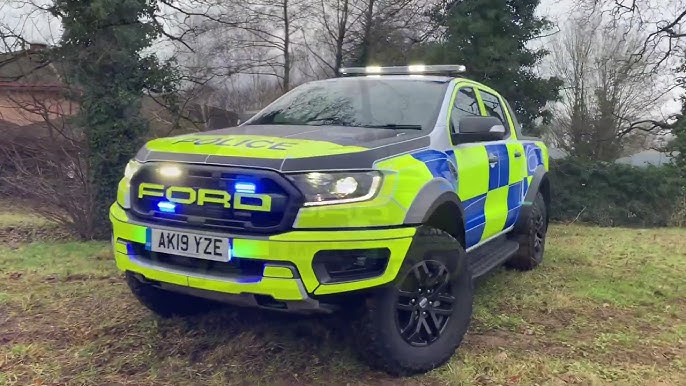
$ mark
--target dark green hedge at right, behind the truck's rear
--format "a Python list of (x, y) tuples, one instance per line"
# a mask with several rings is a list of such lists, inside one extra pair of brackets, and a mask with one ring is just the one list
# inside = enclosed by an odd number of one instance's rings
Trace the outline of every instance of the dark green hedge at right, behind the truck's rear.
[(686, 180), (675, 167), (551, 160), (551, 219), (601, 226), (686, 223)]

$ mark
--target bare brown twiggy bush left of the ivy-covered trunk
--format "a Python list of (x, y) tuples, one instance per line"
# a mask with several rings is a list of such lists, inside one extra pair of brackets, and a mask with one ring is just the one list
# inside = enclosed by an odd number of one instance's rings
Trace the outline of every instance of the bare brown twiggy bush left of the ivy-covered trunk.
[[(98, 232), (81, 130), (60, 120), (0, 138), (0, 196), (21, 198), (31, 210), (82, 239)], [(14, 135), (13, 135), (14, 134)]]

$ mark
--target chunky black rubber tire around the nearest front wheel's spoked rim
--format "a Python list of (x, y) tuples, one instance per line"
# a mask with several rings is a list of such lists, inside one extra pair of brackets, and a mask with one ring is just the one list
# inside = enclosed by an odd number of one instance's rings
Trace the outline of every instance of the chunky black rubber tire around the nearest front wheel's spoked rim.
[[(413, 275), (414, 278), (415, 271), (412, 268), (417, 264), (421, 265), (422, 262), (429, 262), (429, 264), (435, 267), (440, 267), (440, 264), (442, 264), (447, 269), (449, 273), (447, 276), (444, 276), (447, 277), (447, 280), (436, 280), (438, 282), (450, 283), (447, 287), (449, 291), (446, 293), (448, 296), (452, 295), (454, 301), (452, 303), (452, 313), (449, 315), (447, 322), (444, 322), (442, 332), (438, 334), (439, 337), (436, 341), (427, 346), (417, 347), (401, 336), (399, 316), (408, 316), (408, 312), (415, 311), (397, 311), (397, 308), (400, 307), (400, 299), (406, 298), (406, 296), (399, 295), (399, 289), (403, 284), (404, 278), (407, 275)], [(427, 265), (424, 265), (424, 267), (427, 267)], [(428, 277), (430, 278), (430, 276)], [(441, 275), (434, 276), (434, 278), (440, 277)], [(428, 289), (424, 289), (425, 295), (426, 291)], [(363, 313), (359, 320), (362, 334), (359, 336), (360, 341), (357, 347), (362, 350), (364, 359), (371, 367), (395, 376), (425, 373), (439, 367), (445, 364), (455, 353), (469, 328), (472, 316), (473, 293), (472, 277), (469, 272), (464, 247), (447, 232), (422, 226), (417, 229), (396, 281), (392, 285), (380, 288), (366, 299), (362, 310)], [(435, 315), (431, 312), (434, 311), (434, 304), (441, 303), (436, 302), (436, 299), (440, 298), (430, 298), (430, 295), (426, 295), (426, 297), (425, 295), (421, 295), (422, 300), (433, 299), (429, 303), (431, 308), (425, 309), (429, 312), (429, 316), (426, 316), (427, 323), (432, 323), (433, 326), (436, 326), (437, 324), (430, 318)], [(434, 296), (436, 296), (435, 293)], [(449, 304), (448, 301), (442, 303)], [(426, 304), (426, 301), (424, 304)], [(403, 305), (403, 307), (407, 306), (409, 305)], [(445, 307), (445, 304), (443, 306)], [(412, 315), (409, 318), (412, 318)], [(408, 326), (409, 318), (407, 319)]]

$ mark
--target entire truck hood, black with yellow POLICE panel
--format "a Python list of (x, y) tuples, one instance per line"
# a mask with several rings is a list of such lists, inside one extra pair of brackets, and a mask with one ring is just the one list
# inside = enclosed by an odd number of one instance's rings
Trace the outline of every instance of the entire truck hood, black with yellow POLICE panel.
[(242, 125), (153, 140), (136, 158), (279, 171), (369, 169), (379, 159), (428, 145), (422, 130)]

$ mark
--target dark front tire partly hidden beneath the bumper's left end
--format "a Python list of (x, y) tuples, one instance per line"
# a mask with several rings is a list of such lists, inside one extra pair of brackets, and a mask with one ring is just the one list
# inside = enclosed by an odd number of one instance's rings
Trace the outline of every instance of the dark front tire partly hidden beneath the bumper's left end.
[(126, 273), (126, 284), (142, 305), (163, 318), (197, 315), (218, 307), (217, 303), (210, 300), (166, 291), (143, 283), (131, 272)]

